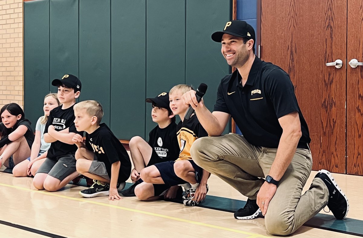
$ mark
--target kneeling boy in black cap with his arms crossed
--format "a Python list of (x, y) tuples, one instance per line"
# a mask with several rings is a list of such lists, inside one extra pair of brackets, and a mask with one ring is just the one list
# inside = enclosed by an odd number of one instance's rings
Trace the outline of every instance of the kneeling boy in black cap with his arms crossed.
[(51, 143), (47, 158), (38, 169), (33, 179), (35, 188), (58, 191), (79, 174), (76, 171), (77, 146), (72, 142), (75, 134), (83, 135), (74, 126), (73, 106), (81, 93), (81, 81), (66, 74), (62, 79), (54, 79), (53, 86), (58, 87), (57, 97), (61, 106), (50, 111), (45, 125), (44, 141)]

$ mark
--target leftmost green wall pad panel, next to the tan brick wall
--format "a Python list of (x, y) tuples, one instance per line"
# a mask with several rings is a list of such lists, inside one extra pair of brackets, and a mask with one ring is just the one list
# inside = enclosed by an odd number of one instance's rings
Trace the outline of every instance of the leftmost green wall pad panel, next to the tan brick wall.
[(49, 0), (24, 3), (24, 113), (32, 128), (49, 93)]

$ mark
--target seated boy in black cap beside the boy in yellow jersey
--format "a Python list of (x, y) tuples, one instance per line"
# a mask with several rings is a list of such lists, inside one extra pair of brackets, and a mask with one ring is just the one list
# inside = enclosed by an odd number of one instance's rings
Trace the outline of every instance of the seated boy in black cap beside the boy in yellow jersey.
[[(172, 161), (179, 156), (179, 143), (176, 137), (175, 117), (169, 106), (169, 93), (160, 93), (157, 97), (147, 98), (147, 103), (152, 103), (151, 117), (152, 121), (158, 123), (149, 133), (149, 142), (147, 143), (141, 137), (132, 137), (129, 143), (131, 159), (135, 168), (131, 171), (132, 186), (121, 194), (125, 197), (135, 196), (135, 187), (142, 182), (140, 172), (143, 168), (164, 161)], [(163, 184), (155, 184), (154, 190), (161, 194), (166, 189)], [(178, 186), (170, 189), (174, 193)], [(163, 190), (160, 191), (159, 190)], [(171, 196), (171, 197), (168, 197)], [(173, 198), (174, 194), (166, 195)]]

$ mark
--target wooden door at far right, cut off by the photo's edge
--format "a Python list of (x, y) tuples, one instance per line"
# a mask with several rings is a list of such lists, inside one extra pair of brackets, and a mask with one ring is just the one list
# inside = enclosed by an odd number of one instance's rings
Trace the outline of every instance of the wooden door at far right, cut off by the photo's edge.
[[(363, 2), (348, 0), (347, 62), (363, 62)], [(363, 66), (347, 66), (347, 173), (363, 175)]]

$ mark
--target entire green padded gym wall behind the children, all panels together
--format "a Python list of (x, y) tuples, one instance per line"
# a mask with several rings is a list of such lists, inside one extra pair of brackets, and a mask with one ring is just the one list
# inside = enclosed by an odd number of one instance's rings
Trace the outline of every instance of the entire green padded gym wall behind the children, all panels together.
[(211, 34), (231, 19), (231, 8), (231, 0), (25, 2), (26, 116), (35, 127), (44, 95), (56, 91), (50, 82), (65, 73), (79, 76), (80, 100), (98, 100), (102, 121), (120, 139), (148, 139), (156, 124), (146, 97), (176, 84), (206, 83), (205, 103), (213, 110), (230, 67)]

